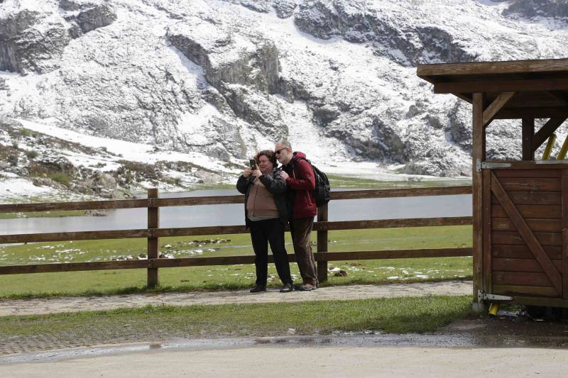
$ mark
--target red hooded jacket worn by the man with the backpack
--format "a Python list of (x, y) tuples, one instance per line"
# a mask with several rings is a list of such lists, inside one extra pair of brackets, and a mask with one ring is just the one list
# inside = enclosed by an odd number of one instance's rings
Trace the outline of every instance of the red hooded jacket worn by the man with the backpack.
[(292, 217), (310, 218), (316, 215), (317, 206), (312, 191), (315, 189), (314, 169), (303, 152), (294, 152), (288, 165), (283, 169), (288, 173), (286, 185), (291, 190)]

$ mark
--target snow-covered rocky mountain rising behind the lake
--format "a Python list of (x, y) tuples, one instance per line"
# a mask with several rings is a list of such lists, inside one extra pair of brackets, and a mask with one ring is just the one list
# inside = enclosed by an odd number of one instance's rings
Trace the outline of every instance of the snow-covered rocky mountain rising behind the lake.
[[(415, 66), (566, 57), (567, 16), (564, 0), (0, 0), (0, 169), (55, 159), (89, 193), (141, 171), (130, 184), (175, 189), (288, 138), (331, 172), (469, 175), (469, 105)], [(85, 136), (61, 147), (65, 130)], [(488, 132), (490, 155), (518, 155), (517, 128)]]

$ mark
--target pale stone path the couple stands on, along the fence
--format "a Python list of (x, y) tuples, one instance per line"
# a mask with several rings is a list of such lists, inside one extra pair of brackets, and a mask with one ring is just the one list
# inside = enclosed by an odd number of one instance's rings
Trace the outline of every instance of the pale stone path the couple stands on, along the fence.
[(200, 291), (191, 293), (132, 294), (119, 296), (81, 296), (50, 299), (17, 299), (0, 301), (0, 316), (38, 315), (74, 311), (109, 310), (141, 307), (148, 304), (187, 306), (192, 304), (239, 304), (330, 299), (392, 298), (396, 296), (472, 294), (471, 281), (423, 282), (414, 284), (350, 285), (322, 287), (315, 291), (280, 293), (271, 289), (252, 294), (248, 290)]

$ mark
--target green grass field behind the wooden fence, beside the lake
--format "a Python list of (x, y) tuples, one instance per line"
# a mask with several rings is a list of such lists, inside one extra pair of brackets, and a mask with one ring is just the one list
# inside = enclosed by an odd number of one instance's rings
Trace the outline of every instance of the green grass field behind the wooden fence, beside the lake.
[[(229, 241), (203, 242), (203, 240), (221, 238)], [(192, 243), (193, 240), (201, 240), (202, 243)], [(314, 234), (312, 241), (315, 240)], [(127, 255), (136, 258), (139, 254), (146, 253), (146, 243), (146, 239), (125, 239), (6, 246), (0, 247), (0, 265), (105, 261)], [(469, 245), (471, 245), (471, 226), (329, 232), (330, 252), (460, 248)], [(286, 248), (289, 253), (293, 252), (288, 233), (286, 234)], [(160, 238), (160, 251), (171, 253), (175, 257), (253, 255), (248, 234)], [(330, 272), (327, 284), (379, 284), (471, 279), (471, 257), (337, 261), (329, 262), (328, 267)], [(295, 263), (290, 263), (290, 268), (296, 277), (300, 277)], [(334, 277), (334, 269), (345, 270), (347, 277)], [(269, 265), (268, 274), (270, 277), (268, 286), (280, 286), (280, 280), (273, 265)], [(253, 286), (253, 283), (254, 265), (163, 268), (160, 269), (160, 287), (155, 290), (145, 288), (146, 269), (12, 274), (0, 276), (0, 298), (242, 289)]]

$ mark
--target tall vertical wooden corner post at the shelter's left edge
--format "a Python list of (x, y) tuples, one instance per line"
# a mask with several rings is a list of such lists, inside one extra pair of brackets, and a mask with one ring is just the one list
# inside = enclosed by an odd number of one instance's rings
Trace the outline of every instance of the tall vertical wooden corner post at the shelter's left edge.
[(484, 287), (484, 180), (482, 172), (477, 171), (477, 163), (486, 158), (485, 148), (485, 127), (484, 127), (484, 94), (474, 93), (473, 101), (473, 148), (471, 155), (473, 164), (471, 178), (473, 181), (473, 247), (474, 247), (474, 306), (475, 312), (484, 311), (484, 302), (478, 301), (478, 289), (485, 290)]

